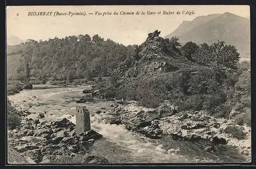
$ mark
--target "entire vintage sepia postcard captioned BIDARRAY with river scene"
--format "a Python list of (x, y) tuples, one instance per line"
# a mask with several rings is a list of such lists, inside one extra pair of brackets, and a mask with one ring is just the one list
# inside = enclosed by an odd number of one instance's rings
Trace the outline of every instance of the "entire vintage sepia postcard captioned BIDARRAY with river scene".
[(249, 6), (8, 6), (8, 164), (251, 162)]

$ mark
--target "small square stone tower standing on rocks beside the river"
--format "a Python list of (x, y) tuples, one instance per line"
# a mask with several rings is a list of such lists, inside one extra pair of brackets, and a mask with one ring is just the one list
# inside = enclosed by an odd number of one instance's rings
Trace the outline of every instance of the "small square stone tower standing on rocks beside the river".
[(76, 133), (84, 133), (91, 130), (90, 112), (85, 106), (77, 106)]

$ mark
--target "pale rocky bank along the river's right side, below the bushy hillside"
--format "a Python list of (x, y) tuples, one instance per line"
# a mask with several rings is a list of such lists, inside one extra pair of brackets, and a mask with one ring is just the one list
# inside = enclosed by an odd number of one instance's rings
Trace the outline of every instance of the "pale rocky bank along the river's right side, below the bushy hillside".
[[(162, 103), (156, 109), (139, 107), (134, 101), (110, 106), (110, 124), (122, 124), (127, 130), (153, 139), (169, 135), (172, 139), (206, 140), (211, 142), (212, 146), (205, 147), (205, 151), (214, 151), (217, 144), (224, 144), (237, 148), (246, 159), (251, 159), (250, 127), (239, 126), (232, 119), (216, 118), (204, 111), (178, 112), (177, 108), (168, 102)], [(244, 137), (234, 138), (232, 134), (227, 133), (230, 127), (243, 131)]]

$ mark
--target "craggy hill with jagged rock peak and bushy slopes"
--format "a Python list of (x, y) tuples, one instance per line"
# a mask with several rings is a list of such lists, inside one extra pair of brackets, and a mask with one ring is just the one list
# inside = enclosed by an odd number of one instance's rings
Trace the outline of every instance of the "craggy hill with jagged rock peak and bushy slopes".
[[(134, 57), (126, 59), (115, 70), (116, 79), (112, 78), (105, 88), (99, 87), (102, 98), (135, 100), (149, 108), (168, 100), (180, 111), (207, 110), (222, 117), (227, 117), (239, 103), (243, 105), (239, 111), (249, 113), (249, 65), (238, 63), (234, 46), (221, 42), (206, 44), (210, 50), (205, 51), (202, 46), (196, 54), (204, 58), (188, 60), (177, 42), (159, 34), (157, 30), (148, 34), (145, 42), (136, 48)], [(223, 60), (226, 51), (228, 59)]]

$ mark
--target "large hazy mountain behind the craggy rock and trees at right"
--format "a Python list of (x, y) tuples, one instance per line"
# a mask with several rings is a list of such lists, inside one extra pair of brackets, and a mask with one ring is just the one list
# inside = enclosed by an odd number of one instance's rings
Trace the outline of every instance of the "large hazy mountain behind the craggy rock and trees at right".
[(165, 38), (177, 36), (181, 43), (225, 41), (237, 47), (241, 57), (250, 57), (250, 20), (231, 13), (197, 17), (183, 22)]

